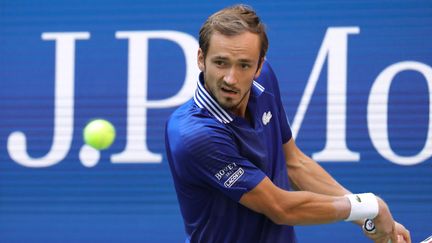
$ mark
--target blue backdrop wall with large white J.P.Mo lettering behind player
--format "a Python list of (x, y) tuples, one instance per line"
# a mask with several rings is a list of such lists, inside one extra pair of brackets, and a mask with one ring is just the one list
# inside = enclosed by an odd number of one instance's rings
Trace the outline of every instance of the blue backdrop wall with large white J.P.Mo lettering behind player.
[[(184, 242), (164, 150), (198, 30), (234, 1), (0, 0), (0, 242)], [(432, 2), (247, 1), (297, 143), (432, 234)], [(83, 146), (94, 118), (117, 129)], [(350, 223), (300, 242), (369, 242)]]

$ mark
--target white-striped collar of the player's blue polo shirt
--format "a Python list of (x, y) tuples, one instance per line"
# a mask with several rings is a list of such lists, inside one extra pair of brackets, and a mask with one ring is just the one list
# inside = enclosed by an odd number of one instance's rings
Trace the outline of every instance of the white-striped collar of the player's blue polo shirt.
[[(251, 94), (254, 96), (259, 96), (264, 92), (265, 88), (256, 82), (253, 81)], [(222, 108), (215, 99), (208, 93), (208, 91), (204, 88), (204, 75), (200, 73), (199, 81), (197, 85), (197, 89), (194, 94), (195, 103), (200, 108), (205, 108), (207, 111), (212, 114), (218, 121), (224, 124), (228, 124), (234, 120), (234, 116), (230, 114), (230, 112), (226, 111)]]

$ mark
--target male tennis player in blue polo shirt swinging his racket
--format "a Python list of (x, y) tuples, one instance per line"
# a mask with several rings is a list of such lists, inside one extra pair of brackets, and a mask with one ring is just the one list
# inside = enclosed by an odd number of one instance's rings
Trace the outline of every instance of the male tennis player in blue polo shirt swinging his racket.
[(352, 194), (296, 146), (252, 8), (210, 16), (199, 46), (195, 95), (166, 126), (186, 242), (296, 242), (294, 225), (366, 219), (375, 242), (411, 241), (382, 199)]

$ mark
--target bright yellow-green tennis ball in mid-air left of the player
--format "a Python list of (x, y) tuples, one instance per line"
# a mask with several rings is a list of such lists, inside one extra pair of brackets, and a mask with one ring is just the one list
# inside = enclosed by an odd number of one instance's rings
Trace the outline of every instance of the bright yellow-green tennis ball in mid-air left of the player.
[(107, 149), (114, 142), (115, 128), (107, 120), (89, 122), (83, 132), (84, 142), (97, 150)]

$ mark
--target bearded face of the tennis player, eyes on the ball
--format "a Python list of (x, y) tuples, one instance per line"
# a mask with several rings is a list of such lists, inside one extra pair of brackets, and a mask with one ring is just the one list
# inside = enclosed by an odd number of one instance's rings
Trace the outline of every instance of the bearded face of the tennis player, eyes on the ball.
[(259, 36), (251, 32), (226, 36), (215, 31), (205, 60), (198, 51), (206, 89), (219, 105), (239, 116), (244, 116), (252, 82), (261, 71), (260, 44)]

